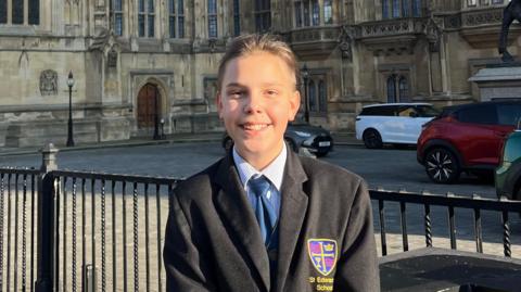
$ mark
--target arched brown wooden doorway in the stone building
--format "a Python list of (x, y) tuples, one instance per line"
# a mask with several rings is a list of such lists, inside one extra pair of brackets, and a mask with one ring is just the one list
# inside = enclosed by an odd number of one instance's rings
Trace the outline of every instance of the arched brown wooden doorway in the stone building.
[(161, 93), (156, 85), (145, 84), (138, 93), (138, 130), (150, 132), (161, 115)]

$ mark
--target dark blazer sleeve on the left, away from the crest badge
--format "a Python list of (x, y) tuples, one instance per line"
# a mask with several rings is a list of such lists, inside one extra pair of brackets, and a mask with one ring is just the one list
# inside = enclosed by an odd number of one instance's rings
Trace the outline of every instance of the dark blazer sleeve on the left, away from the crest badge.
[(177, 195), (170, 194), (163, 252), (166, 291), (217, 291), (211, 265), (202, 253), (203, 246), (196, 244), (194, 238)]

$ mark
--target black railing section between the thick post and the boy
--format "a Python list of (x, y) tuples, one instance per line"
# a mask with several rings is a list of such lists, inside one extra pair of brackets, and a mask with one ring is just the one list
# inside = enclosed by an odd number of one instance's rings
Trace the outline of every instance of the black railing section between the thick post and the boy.
[(49, 175), (56, 211), (54, 290), (164, 291), (163, 232), (168, 193), (177, 180), (63, 170)]

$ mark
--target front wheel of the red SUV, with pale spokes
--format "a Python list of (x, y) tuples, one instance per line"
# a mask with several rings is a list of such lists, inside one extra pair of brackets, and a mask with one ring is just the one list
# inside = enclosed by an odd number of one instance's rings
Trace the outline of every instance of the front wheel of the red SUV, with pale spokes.
[(461, 174), (456, 155), (445, 148), (434, 148), (427, 153), (425, 172), (436, 183), (452, 183)]

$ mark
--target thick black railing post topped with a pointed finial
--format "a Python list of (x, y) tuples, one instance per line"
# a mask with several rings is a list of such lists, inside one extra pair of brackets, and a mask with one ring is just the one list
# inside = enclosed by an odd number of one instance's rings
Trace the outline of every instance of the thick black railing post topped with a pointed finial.
[(54, 291), (54, 177), (58, 149), (49, 143), (40, 150), (41, 174), (38, 177), (38, 277), (37, 292)]

